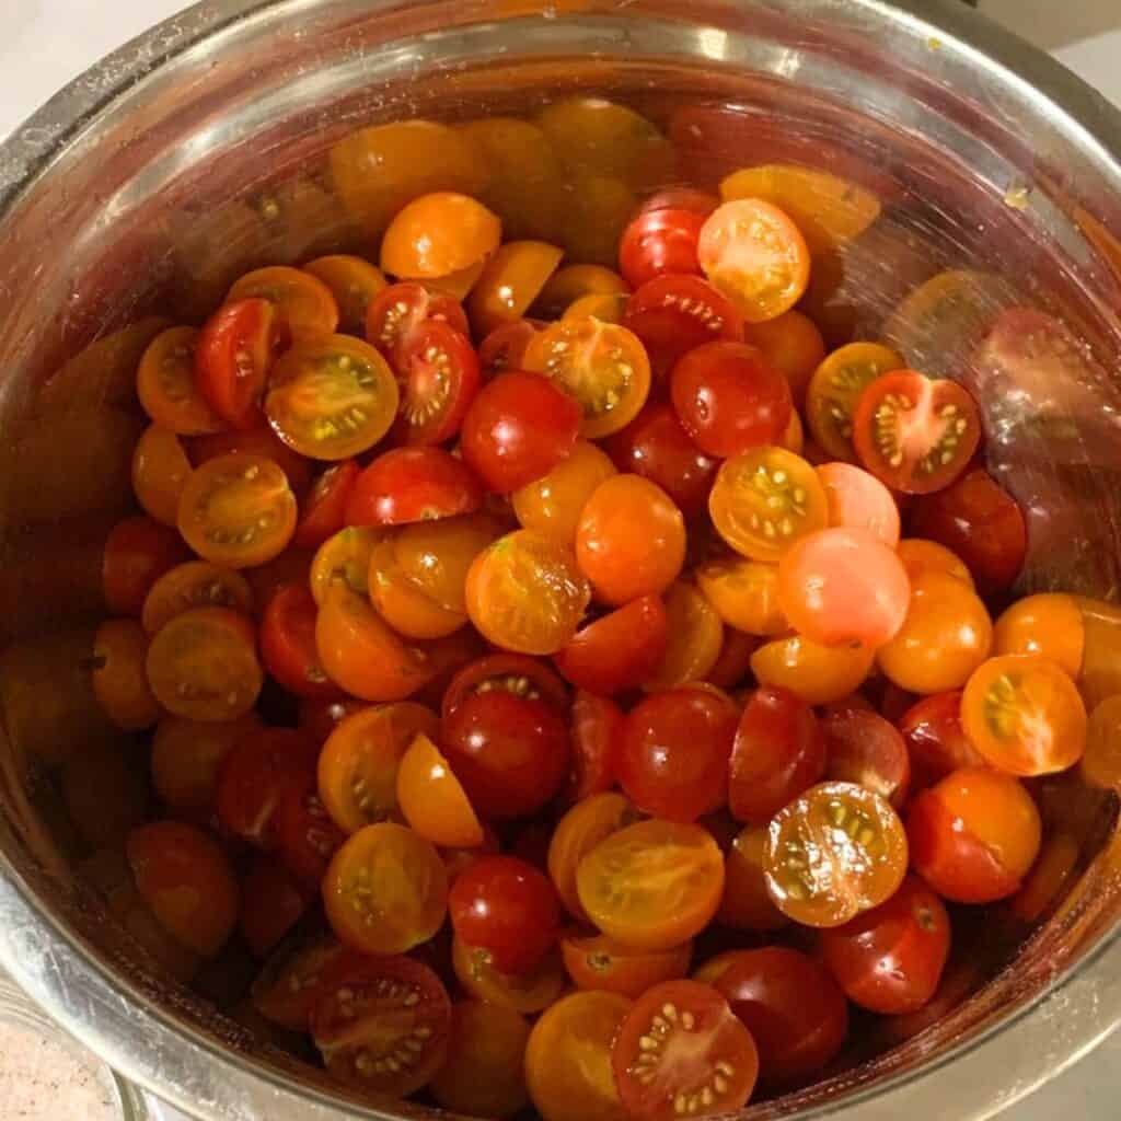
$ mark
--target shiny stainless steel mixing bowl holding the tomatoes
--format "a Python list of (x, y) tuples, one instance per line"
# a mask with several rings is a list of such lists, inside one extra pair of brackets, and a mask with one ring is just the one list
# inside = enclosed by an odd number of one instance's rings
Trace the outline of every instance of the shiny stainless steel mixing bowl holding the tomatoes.
[[(651, 135), (659, 158), (619, 173), (630, 194), (558, 173), (569, 243), (604, 197), (710, 185), (760, 157), (878, 193), (879, 222), (815, 261), (818, 313), (836, 340), (888, 332), (971, 381), (992, 467), (1028, 515), (1025, 589), (1117, 595), (1121, 120), (956, 0), (214, 0), (154, 29), (0, 148), (0, 960), (113, 1067), (200, 1118), (427, 1114), (336, 1093), (179, 986), (94, 890), (87, 858), (121, 823), (83, 835), (74, 805), (106, 768), (124, 784), (130, 749), (91, 705), (83, 650), (128, 494), (138, 353), (157, 316), (197, 316), (239, 269), (372, 235), (377, 214), (340, 200), (328, 158), (355, 129), (531, 117), (573, 96), (636, 108), (674, 151)], [(915, 304), (892, 317), (946, 269), (973, 276), (921, 318)], [(971, 331), (1013, 304), (1069, 337), (978, 363)], [(1057, 804), (1081, 855), (1049, 920), (986, 917), (973, 945), (994, 975), (979, 991), (958, 972), (967, 999), (945, 993), (938, 1022), (747, 1115), (989, 1117), (1112, 1030), (1115, 807)]]

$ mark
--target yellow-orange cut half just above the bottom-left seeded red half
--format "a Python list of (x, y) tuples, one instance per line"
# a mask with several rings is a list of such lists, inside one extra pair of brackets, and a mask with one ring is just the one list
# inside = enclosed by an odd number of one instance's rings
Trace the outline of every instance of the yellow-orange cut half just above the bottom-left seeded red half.
[(364, 954), (404, 954), (432, 938), (447, 915), (447, 872), (436, 846), (382, 822), (352, 834), (323, 880), (339, 939)]

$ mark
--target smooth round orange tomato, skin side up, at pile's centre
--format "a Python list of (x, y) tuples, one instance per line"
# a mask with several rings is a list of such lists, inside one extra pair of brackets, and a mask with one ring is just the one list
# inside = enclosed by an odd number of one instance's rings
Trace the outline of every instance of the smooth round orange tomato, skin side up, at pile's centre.
[(665, 591), (685, 563), (685, 519), (641, 475), (614, 475), (592, 493), (576, 527), (576, 562), (596, 597), (615, 606)]

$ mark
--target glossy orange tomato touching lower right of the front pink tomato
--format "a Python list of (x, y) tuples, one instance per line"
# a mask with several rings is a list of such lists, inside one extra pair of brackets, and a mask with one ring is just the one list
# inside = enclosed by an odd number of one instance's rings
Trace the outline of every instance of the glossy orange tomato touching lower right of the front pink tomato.
[(930, 572), (911, 584), (902, 627), (880, 648), (888, 679), (911, 693), (960, 689), (992, 645), (992, 620), (976, 593), (945, 573)]

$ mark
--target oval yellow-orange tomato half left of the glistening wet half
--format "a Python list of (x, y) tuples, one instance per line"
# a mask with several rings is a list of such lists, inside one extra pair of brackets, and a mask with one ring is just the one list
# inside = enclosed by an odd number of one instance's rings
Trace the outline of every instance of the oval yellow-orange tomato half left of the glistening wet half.
[(724, 858), (700, 825), (651, 818), (601, 841), (581, 861), (576, 889), (604, 934), (637, 949), (669, 949), (716, 914)]

